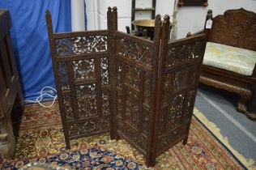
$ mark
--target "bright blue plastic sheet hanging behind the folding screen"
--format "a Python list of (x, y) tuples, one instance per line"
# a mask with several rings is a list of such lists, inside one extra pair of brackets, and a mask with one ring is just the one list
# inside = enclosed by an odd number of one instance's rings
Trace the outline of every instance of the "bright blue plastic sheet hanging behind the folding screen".
[(0, 8), (11, 13), (11, 40), (23, 96), (34, 100), (43, 87), (55, 87), (45, 10), (51, 11), (54, 32), (70, 32), (70, 0), (0, 0)]

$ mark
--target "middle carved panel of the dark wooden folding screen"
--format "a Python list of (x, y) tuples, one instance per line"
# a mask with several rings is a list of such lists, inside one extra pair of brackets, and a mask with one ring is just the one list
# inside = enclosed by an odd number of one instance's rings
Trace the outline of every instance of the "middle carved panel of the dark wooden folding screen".
[(154, 44), (117, 32), (117, 134), (146, 155), (152, 111)]

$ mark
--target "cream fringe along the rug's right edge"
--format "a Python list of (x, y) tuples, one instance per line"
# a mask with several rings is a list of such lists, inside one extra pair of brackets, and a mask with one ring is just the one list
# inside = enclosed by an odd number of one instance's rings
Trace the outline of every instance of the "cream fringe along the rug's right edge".
[(213, 122), (209, 121), (207, 117), (203, 115), (203, 113), (200, 113), (197, 108), (194, 108), (194, 116), (198, 118), (199, 121), (203, 123), (203, 125), (206, 125), (208, 130), (211, 130), (211, 133), (215, 135), (216, 138), (220, 140), (224, 144), (225, 147), (228, 148), (229, 151), (233, 153), (241, 161), (242, 164), (245, 165), (246, 168), (251, 170), (256, 170), (256, 166), (254, 165), (255, 161), (254, 159), (246, 159), (243, 155), (241, 155), (237, 150), (235, 150), (228, 142), (228, 138), (224, 137), (220, 129), (215, 125)]

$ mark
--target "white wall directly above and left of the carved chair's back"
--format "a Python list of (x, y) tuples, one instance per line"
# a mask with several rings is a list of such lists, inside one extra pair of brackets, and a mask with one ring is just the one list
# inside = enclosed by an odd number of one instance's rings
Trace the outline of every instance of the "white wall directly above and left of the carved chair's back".
[(223, 15), (229, 9), (245, 8), (256, 12), (256, 0), (209, 0), (207, 7), (182, 6), (177, 13), (177, 38), (183, 38), (187, 32), (198, 32), (203, 29), (208, 9), (213, 16)]

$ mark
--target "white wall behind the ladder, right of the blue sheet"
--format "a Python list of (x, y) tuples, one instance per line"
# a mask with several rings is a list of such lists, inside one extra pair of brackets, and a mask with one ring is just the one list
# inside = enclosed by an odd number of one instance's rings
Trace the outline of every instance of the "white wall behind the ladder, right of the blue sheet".
[[(156, 14), (173, 15), (174, 0), (157, 0)], [(131, 22), (131, 0), (87, 0), (87, 29), (106, 29), (108, 7), (117, 6), (118, 30), (126, 32)], [(136, 7), (151, 7), (151, 0), (136, 0)], [(135, 19), (150, 19), (150, 12), (136, 12)]]

